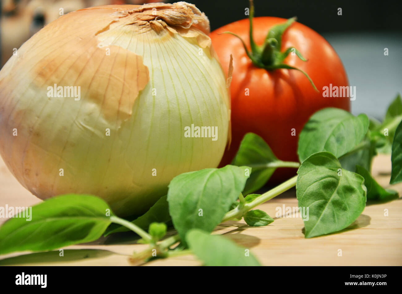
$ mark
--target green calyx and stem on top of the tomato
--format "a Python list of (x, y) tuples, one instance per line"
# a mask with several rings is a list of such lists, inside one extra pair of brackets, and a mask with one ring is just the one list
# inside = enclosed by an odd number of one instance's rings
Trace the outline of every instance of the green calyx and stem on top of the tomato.
[(295, 22), (296, 17), (289, 18), (283, 24), (277, 24), (273, 26), (267, 34), (265, 38), (264, 44), (262, 46), (256, 45), (254, 42), (253, 37), (253, 21), (254, 18), (254, 4), (253, 1), (250, 0), (250, 13), (248, 15), (248, 19), (250, 20), (250, 49), (247, 49), (246, 44), (244, 43), (243, 39), (241, 39), (238, 35), (232, 32), (224, 32), (224, 34), (234, 35), (235, 37), (239, 38), (242, 41), (244, 50), (246, 51), (247, 56), (251, 59), (252, 63), (257, 67), (261, 67), (267, 69), (269, 71), (279, 69), (279, 68), (286, 68), (286, 69), (296, 69), (303, 73), (306, 78), (310, 81), (311, 85), (313, 86), (314, 90), (318, 91), (314, 82), (308, 76), (308, 74), (291, 65), (283, 63), (285, 58), (292, 53), (293, 55), (297, 55), (302, 61), (307, 61), (303, 55), (301, 55), (300, 51), (298, 51), (294, 47), (287, 48), (284, 52), (281, 52), (281, 42), (282, 42), (282, 35), (285, 33), (286, 29), (291, 26), (293, 22)]

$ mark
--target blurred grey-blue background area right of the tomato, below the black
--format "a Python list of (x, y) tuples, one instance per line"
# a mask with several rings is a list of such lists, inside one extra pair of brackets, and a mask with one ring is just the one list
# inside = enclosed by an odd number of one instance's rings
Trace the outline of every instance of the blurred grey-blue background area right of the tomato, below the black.
[(402, 93), (402, 34), (389, 30), (328, 33), (324, 37), (342, 60), (349, 85), (356, 87), (352, 113), (383, 120), (388, 105)]

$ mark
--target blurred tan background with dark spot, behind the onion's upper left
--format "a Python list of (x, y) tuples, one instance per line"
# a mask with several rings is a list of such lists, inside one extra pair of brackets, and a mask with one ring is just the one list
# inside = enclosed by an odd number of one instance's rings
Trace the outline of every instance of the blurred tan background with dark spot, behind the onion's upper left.
[(1, 66), (33, 34), (60, 15), (108, 4), (144, 4), (164, 0), (2, 0)]

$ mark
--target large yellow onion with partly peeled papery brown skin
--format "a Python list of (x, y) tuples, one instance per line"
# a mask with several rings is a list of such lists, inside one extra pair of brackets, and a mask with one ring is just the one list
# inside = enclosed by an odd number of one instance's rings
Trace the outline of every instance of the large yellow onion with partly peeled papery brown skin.
[[(41, 199), (93, 194), (127, 216), (174, 176), (217, 167), (230, 98), (208, 33), (185, 2), (86, 8), (45, 26), (0, 71), (0, 154), (12, 174)], [(54, 84), (80, 86), (80, 100), (48, 97)], [(185, 137), (191, 124), (217, 126), (217, 140)]]

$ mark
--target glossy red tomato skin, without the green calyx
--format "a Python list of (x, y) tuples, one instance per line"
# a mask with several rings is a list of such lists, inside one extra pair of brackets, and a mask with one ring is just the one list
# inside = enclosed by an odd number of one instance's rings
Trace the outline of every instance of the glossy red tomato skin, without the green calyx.
[[(285, 21), (277, 17), (254, 18), (255, 43), (262, 45), (268, 30)], [(318, 92), (299, 71), (267, 71), (258, 68), (252, 64), (238, 38), (229, 34), (219, 35), (225, 31), (235, 33), (250, 48), (248, 29), (248, 19), (244, 19), (227, 24), (210, 34), (224, 71), (229, 67), (230, 54), (233, 55), (234, 67), (230, 86), (232, 143), (220, 166), (230, 164), (240, 141), (248, 132), (263, 137), (279, 159), (298, 161), (299, 133), (314, 112), (326, 107), (350, 110), (349, 98), (324, 98), (322, 95), (324, 86), (349, 86), (345, 69), (331, 45), (318, 33), (298, 22), (293, 23), (283, 34), (281, 51), (295, 47), (307, 61), (289, 54), (284, 63), (305, 71)], [(292, 129), (295, 129), (295, 136), (292, 136)], [(295, 171), (278, 169), (271, 179), (273, 182), (285, 180), (293, 176)]]

